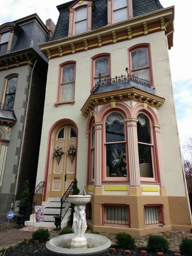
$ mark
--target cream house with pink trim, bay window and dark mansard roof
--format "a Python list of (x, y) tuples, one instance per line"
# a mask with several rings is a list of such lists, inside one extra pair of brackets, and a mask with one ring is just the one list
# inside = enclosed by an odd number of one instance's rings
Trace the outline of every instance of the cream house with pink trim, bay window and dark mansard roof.
[[(174, 6), (84, 0), (57, 6), (36, 185), (60, 203), (74, 178), (93, 230), (190, 230), (168, 50)], [(55, 147), (60, 155), (55, 156)], [(178, 207), (179, 206), (179, 207)]]

